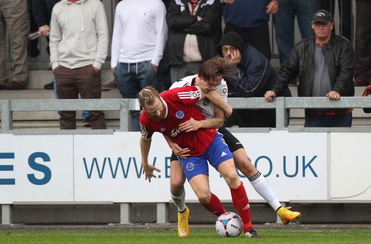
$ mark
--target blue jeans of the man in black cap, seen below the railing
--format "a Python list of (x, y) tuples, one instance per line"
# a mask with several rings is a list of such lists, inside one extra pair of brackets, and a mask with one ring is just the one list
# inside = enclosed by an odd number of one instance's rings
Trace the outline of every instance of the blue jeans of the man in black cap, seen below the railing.
[(304, 127), (350, 127), (352, 114), (345, 115), (307, 115)]

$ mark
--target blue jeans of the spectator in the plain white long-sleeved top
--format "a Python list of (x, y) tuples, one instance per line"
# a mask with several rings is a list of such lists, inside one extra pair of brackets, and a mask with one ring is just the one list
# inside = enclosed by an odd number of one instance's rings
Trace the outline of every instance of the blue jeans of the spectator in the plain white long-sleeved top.
[[(159, 90), (159, 81), (153, 70), (151, 61), (138, 63), (118, 62), (113, 73), (117, 81), (117, 87), (123, 98), (137, 98), (137, 94), (147, 85)], [(140, 131), (140, 111), (130, 110), (131, 130)]]

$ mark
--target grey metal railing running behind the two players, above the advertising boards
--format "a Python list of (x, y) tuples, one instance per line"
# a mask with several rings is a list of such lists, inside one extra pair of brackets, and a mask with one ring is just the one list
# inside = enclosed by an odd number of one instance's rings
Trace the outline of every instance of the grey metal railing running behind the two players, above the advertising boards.
[[(84, 100), (0, 100), (1, 133), (13, 134), (109, 134), (107, 130), (60, 130), (60, 129), (18, 129), (13, 130), (13, 112), (16, 111), (58, 111), (58, 110), (118, 110), (120, 130), (128, 131), (129, 110), (140, 110), (136, 99), (84, 99)], [(230, 128), (231, 132), (269, 132), (288, 130), (289, 132), (371, 132), (371, 127), (290, 127), (287, 109), (291, 108), (371, 108), (371, 97), (342, 97), (339, 101), (327, 98), (274, 98), (266, 102), (264, 98), (230, 98), (228, 103), (234, 109), (275, 109), (276, 128)]]

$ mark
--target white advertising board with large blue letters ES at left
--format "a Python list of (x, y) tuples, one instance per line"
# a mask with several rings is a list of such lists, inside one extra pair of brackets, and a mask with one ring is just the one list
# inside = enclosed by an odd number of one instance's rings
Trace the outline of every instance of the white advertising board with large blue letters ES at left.
[(0, 203), (73, 201), (72, 135), (0, 135)]

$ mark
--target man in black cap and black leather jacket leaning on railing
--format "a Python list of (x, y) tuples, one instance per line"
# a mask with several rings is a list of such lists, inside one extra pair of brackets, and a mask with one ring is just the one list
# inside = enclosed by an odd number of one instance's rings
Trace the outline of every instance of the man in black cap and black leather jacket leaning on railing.
[[(276, 81), (266, 92), (266, 101), (272, 102), (298, 75), (299, 97), (328, 97), (330, 101), (338, 101), (342, 96), (354, 96), (353, 47), (347, 39), (331, 33), (334, 24), (328, 11), (317, 11), (311, 24), (315, 36), (294, 46)], [(351, 111), (352, 108), (306, 109), (304, 126), (350, 127)]]

